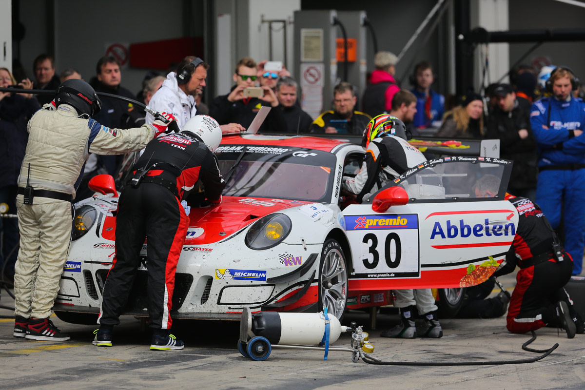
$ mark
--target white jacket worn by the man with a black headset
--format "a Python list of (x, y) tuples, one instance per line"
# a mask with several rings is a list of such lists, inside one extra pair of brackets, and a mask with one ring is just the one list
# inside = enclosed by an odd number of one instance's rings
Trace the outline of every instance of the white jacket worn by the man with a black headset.
[[(197, 113), (195, 108), (195, 98), (185, 94), (177, 83), (177, 74), (171, 72), (167, 74), (167, 80), (150, 99), (149, 107), (154, 111), (167, 112), (174, 115), (177, 119), (179, 129), (183, 129), (187, 120), (193, 118)], [(146, 123), (152, 124), (154, 117), (149, 113), (146, 114)]]

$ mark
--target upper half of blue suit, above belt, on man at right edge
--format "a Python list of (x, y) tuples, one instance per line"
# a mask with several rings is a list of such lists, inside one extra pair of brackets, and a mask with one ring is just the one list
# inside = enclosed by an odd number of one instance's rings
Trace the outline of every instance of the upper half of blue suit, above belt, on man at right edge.
[(539, 167), (585, 164), (585, 134), (573, 137), (570, 132), (585, 128), (585, 103), (581, 99), (542, 98), (532, 104), (530, 124), (540, 153)]

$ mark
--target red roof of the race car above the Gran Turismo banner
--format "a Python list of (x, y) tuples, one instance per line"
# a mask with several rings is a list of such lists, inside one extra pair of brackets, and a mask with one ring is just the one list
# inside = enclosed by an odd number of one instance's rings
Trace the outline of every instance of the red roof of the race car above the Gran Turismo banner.
[(348, 144), (348, 142), (345, 140), (308, 136), (265, 136), (262, 134), (243, 134), (241, 136), (225, 136), (223, 137), (221, 144), (303, 147), (331, 152), (336, 146)]

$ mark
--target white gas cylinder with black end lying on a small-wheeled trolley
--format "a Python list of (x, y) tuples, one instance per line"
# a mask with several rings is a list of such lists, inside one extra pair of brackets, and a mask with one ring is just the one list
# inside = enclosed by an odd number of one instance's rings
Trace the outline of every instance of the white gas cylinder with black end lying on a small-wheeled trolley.
[[(329, 317), (329, 344), (335, 343), (347, 327), (339, 323), (337, 317)], [(317, 345), (325, 334), (323, 313), (277, 313), (260, 312), (253, 315), (242, 313), (240, 332), (250, 337), (264, 336), (271, 344)]]

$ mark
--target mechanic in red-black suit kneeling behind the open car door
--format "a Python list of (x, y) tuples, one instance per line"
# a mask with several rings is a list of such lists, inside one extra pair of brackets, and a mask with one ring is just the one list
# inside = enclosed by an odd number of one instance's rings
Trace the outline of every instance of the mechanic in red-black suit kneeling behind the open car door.
[[(489, 198), (498, 193), (500, 178), (484, 175), (475, 187), (478, 198)], [(506, 255), (506, 264), (495, 271), (495, 276), (509, 274), (516, 265), (516, 287), (512, 292), (506, 327), (512, 333), (526, 333), (547, 325), (565, 329), (572, 339), (575, 333), (584, 333), (583, 320), (573, 308), (563, 286), (573, 271), (573, 259), (563, 249), (548, 219), (536, 203), (528, 198), (506, 194), (518, 210), (518, 227), (512, 247)], [(554, 302), (546, 307), (545, 301)]]

